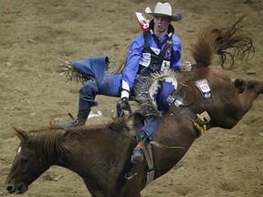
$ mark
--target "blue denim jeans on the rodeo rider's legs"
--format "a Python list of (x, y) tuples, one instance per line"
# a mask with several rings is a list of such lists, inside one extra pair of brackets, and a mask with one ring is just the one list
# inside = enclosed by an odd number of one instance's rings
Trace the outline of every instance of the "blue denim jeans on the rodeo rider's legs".
[[(142, 99), (147, 97), (146, 91), (148, 91), (148, 88), (145, 78), (137, 75), (134, 80), (131, 96), (136, 97), (136, 101), (142, 104)], [(79, 118), (88, 119), (90, 108), (98, 106), (98, 102), (95, 101), (96, 95), (121, 97), (121, 74), (106, 74), (100, 85), (95, 80), (89, 80), (84, 87), (79, 89)], [(149, 115), (144, 120), (141, 132), (146, 133), (149, 140), (153, 140), (159, 125), (160, 119), (154, 115)]]

